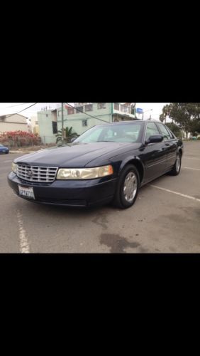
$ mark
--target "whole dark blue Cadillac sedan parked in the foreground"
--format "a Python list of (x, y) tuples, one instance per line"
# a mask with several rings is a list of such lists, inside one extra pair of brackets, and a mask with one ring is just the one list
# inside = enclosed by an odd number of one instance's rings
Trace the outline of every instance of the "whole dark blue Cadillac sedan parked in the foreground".
[(21, 198), (41, 204), (126, 209), (140, 187), (181, 169), (182, 140), (158, 121), (97, 125), (65, 147), (14, 159), (8, 181)]

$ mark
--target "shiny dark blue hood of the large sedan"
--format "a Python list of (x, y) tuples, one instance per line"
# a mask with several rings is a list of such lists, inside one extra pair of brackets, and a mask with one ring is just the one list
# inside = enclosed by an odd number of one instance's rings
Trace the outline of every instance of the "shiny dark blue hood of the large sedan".
[(51, 167), (85, 167), (89, 162), (106, 155), (106, 159), (118, 155), (121, 151), (133, 147), (140, 147), (138, 143), (124, 142), (95, 142), (95, 143), (74, 143), (65, 147), (55, 147), (47, 150), (18, 157), (16, 163), (26, 163), (30, 165), (43, 165)]

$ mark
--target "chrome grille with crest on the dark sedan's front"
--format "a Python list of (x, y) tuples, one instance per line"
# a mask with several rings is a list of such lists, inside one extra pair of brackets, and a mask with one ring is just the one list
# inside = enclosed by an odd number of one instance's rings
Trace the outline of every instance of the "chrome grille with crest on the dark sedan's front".
[(28, 166), (17, 164), (17, 176), (28, 182), (50, 183), (55, 181), (57, 167)]

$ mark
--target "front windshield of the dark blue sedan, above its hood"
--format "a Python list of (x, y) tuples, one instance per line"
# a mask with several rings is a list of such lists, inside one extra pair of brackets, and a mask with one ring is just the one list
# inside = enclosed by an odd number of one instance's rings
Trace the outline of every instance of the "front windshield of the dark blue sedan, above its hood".
[(142, 142), (143, 122), (110, 124), (92, 127), (74, 140), (76, 142)]

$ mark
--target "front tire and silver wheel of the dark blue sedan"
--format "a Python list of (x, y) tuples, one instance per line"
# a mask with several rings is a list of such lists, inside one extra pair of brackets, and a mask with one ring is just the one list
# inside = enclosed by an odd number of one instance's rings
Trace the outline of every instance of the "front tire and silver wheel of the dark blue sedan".
[(133, 206), (138, 196), (139, 187), (138, 169), (133, 164), (128, 164), (119, 177), (113, 205), (120, 209), (127, 209)]

